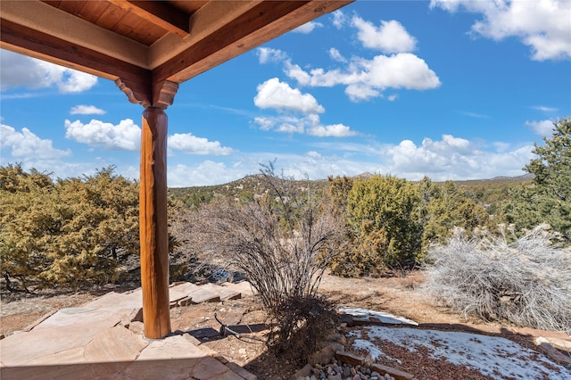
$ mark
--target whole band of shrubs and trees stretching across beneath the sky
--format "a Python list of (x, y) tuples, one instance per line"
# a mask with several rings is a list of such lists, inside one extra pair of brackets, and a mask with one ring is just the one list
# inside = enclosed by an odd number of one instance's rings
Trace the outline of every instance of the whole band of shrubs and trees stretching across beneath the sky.
[[(343, 277), (385, 276), (421, 268), (428, 254), (431, 292), (455, 308), (568, 330), (570, 310), (561, 305), (571, 304), (569, 253), (550, 244), (571, 243), (571, 120), (554, 127), (525, 166), (533, 179), (517, 182), (380, 175), (300, 181), (278, 176), (270, 163), (260, 175), (231, 184), (170, 189), (171, 280), (239, 271), (281, 316), (291, 305), (315, 300), (327, 268)], [(20, 165), (1, 167), (3, 290), (77, 288), (137, 276), (137, 187), (113, 168), (54, 180)], [(527, 234), (542, 223), (559, 240), (536, 230)], [(502, 225), (513, 233), (502, 235)], [(464, 237), (452, 236), (457, 228)], [(479, 240), (466, 237), (475, 233)], [(296, 323), (310, 320), (291, 326)]]

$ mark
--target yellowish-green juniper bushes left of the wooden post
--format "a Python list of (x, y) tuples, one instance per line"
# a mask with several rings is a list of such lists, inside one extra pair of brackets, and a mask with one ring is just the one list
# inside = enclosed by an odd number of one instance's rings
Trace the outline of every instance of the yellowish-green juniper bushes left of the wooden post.
[(0, 270), (3, 285), (104, 285), (138, 254), (138, 186), (101, 169), (58, 179), (20, 165), (0, 168)]

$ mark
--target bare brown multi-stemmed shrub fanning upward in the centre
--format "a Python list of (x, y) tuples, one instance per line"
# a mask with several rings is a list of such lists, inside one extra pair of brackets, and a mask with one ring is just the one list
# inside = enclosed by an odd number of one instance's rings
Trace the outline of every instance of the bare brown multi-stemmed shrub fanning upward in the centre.
[(254, 202), (217, 200), (197, 211), (189, 235), (220, 268), (244, 273), (268, 310), (291, 297), (317, 294), (343, 231), (319, 196), (263, 166), (271, 189)]

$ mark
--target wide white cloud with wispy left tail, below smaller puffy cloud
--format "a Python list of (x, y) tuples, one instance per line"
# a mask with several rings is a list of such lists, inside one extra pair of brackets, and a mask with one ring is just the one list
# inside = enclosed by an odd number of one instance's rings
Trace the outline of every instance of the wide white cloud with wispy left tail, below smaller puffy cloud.
[(285, 62), (285, 74), (302, 86), (346, 86), (352, 101), (382, 95), (386, 88), (426, 90), (440, 86), (440, 79), (426, 62), (415, 54), (377, 55), (372, 60), (353, 58), (345, 70), (314, 69), (307, 72), (298, 65)]

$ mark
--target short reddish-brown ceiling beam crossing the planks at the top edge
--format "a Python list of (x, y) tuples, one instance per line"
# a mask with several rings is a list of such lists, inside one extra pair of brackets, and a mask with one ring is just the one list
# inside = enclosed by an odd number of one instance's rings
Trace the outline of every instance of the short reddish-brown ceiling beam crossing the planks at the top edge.
[(109, 0), (110, 3), (119, 6), (128, 12), (161, 27), (179, 37), (188, 36), (190, 15), (182, 12), (166, 2), (156, 1), (133, 1), (133, 0)]

